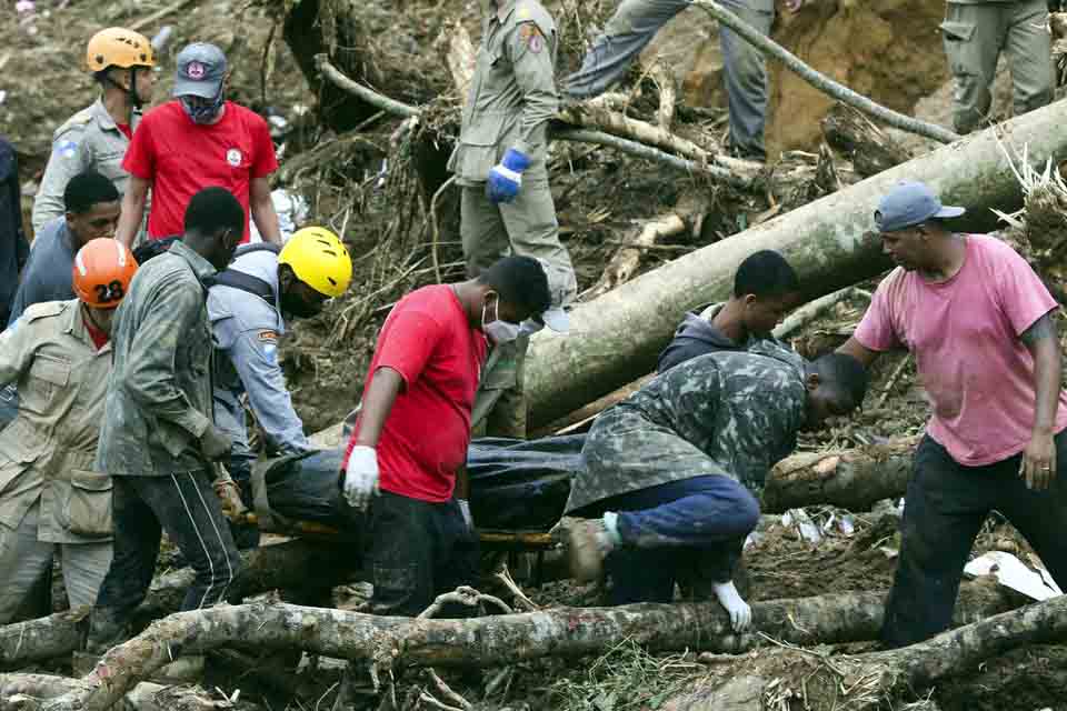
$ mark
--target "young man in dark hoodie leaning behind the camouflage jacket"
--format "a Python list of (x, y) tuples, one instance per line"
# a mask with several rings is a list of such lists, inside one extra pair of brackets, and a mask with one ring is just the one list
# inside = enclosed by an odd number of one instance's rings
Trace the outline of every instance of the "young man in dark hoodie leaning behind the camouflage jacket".
[(788, 348), (770, 332), (799, 301), (800, 280), (785, 258), (769, 249), (746, 258), (734, 277), (734, 296), (699, 316), (687, 313), (659, 356), (657, 372), (716, 351), (777, 351)]

